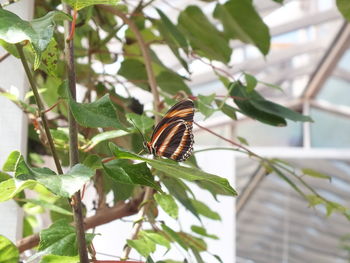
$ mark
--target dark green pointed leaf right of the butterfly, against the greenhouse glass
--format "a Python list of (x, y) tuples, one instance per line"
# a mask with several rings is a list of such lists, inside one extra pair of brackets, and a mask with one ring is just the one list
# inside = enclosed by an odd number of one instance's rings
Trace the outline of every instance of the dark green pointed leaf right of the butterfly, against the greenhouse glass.
[[(232, 88), (232, 89), (231, 89)], [(230, 94), (243, 114), (274, 126), (286, 126), (285, 119), (292, 121), (312, 121), (309, 116), (302, 115), (286, 107), (264, 99), (256, 90), (248, 92), (241, 82), (231, 83)]]

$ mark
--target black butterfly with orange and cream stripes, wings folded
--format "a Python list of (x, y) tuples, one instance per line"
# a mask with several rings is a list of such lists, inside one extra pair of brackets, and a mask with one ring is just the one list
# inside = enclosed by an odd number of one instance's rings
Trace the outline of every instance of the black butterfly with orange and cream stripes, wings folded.
[(194, 104), (190, 99), (182, 100), (170, 108), (153, 130), (151, 140), (145, 143), (154, 156), (163, 156), (182, 162), (193, 151)]

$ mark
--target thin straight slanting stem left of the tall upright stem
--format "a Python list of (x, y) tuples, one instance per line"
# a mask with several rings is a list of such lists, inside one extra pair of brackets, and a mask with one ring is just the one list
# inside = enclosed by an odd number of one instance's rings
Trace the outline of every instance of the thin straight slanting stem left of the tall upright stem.
[(16, 48), (17, 48), (18, 54), (20, 56), (20, 59), (21, 59), (24, 71), (26, 72), (26, 75), (28, 77), (30, 86), (31, 86), (31, 88), (33, 90), (34, 98), (35, 98), (36, 104), (38, 106), (39, 115), (40, 115), (40, 118), (42, 120), (44, 129), (45, 129), (47, 141), (49, 143), (49, 148), (50, 148), (52, 157), (53, 157), (53, 159), (55, 161), (57, 172), (59, 174), (63, 174), (62, 166), (61, 166), (60, 160), (58, 158), (58, 155), (57, 155), (57, 152), (56, 152), (56, 149), (55, 149), (55, 145), (53, 143), (53, 139), (52, 139), (52, 136), (51, 136), (51, 132), (50, 132), (50, 129), (49, 129), (49, 125), (48, 125), (48, 122), (47, 122), (47, 119), (46, 119), (46, 116), (45, 116), (44, 106), (43, 106), (43, 103), (42, 103), (42, 101), (40, 99), (40, 95), (39, 95), (38, 89), (36, 87), (36, 84), (35, 84), (34, 78), (32, 76), (32, 73), (30, 72), (30, 69), (29, 69), (29, 66), (28, 66), (28, 63), (27, 63), (27, 59), (26, 59), (26, 57), (24, 55), (24, 52), (23, 52), (23, 47), (20, 44), (16, 44)]

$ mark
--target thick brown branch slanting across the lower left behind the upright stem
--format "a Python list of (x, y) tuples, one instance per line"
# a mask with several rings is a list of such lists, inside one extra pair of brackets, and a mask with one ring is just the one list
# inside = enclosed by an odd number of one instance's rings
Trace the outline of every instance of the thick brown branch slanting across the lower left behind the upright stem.
[[(136, 214), (141, 200), (142, 198), (137, 198), (133, 199), (129, 203), (121, 203), (117, 206), (104, 208), (97, 211), (95, 215), (85, 218), (84, 229), (87, 230), (94, 228), (103, 224), (107, 224), (113, 220)], [(34, 234), (17, 241), (16, 245), (19, 252), (23, 252), (37, 246), (39, 244), (39, 241), (39, 234)]]

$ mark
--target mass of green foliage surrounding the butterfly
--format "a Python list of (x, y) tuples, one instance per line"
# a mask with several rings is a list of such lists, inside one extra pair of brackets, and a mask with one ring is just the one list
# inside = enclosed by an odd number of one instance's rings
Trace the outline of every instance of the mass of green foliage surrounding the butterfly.
[[(269, 28), (250, 0), (220, 3), (207, 0), (205, 2), (212, 2), (215, 7), (212, 13), (204, 13), (204, 9), (197, 5), (189, 5), (180, 10), (177, 21), (169, 18), (166, 10), (154, 8), (151, 5), (153, 1), (139, 1), (136, 7), (117, 0), (63, 2), (74, 9), (73, 16), (59, 11), (60, 1), (36, 1), (36, 18), (32, 21), (25, 21), (0, 8), (0, 45), (13, 56), (30, 63), (32, 72), (27, 72), (28, 78), (37, 83), (44, 105), (48, 108), (57, 104), (51, 109), (54, 117), (50, 117), (45, 127), (45, 122), (40, 119), (43, 114), (40, 105), (35, 105), (32, 93), (28, 94), (28, 101), (21, 101), (12, 94), (1, 92), (28, 114), (31, 147), (29, 161), (25, 161), (26, 158), (18, 151), (8, 156), (0, 174), (0, 201), (14, 199), (23, 206), (26, 212), (25, 235), (38, 231), (35, 217), (46, 210), (50, 212), (53, 222), (49, 228), (39, 230), (38, 251), (31, 259), (41, 257), (42, 263), (79, 261), (76, 229), (70, 225), (73, 214), (71, 204), (76, 201), (72, 196), (85, 184), (93, 182), (97, 192), (96, 213), (107, 209), (106, 196), (109, 193), (114, 198), (108, 205), (130, 205), (130, 210), (121, 217), (130, 215), (130, 211), (145, 211), (135, 225), (149, 221), (151, 227), (137, 231), (125, 243), (147, 262), (154, 262), (152, 254), (159, 247), (167, 250), (180, 247), (192, 253), (197, 262), (204, 262), (203, 255), (210, 254), (206, 239), (218, 237), (208, 233), (203, 225), (192, 225), (189, 232), (173, 229), (168, 221), (158, 218), (158, 206), (170, 216), (169, 220), (181, 221), (181, 207), (192, 213), (200, 223), (204, 217), (221, 220), (215, 210), (196, 198), (190, 186), (198, 185), (215, 199), (218, 195), (236, 196), (237, 193), (227, 179), (220, 177), (220, 171), (217, 171), (218, 175), (202, 171), (195, 154), (184, 164), (141, 154), (142, 137), (149, 138), (155, 116), (165, 112), (177, 98), (182, 97), (192, 98), (198, 114), (205, 119), (221, 113), (236, 120), (236, 113), (241, 113), (272, 126), (285, 126), (287, 120), (312, 122), (309, 116), (276, 104), (259, 93), (259, 85), (275, 88), (273, 85), (260, 82), (248, 73), (244, 73), (240, 79), (227, 76), (228, 72), (223, 76), (222, 71), (213, 66), (218, 62), (222, 65), (230, 63), (234, 56), (230, 45), (232, 40), (253, 45), (262, 56), (266, 56), (271, 40)], [(337, 5), (348, 18), (347, 2), (338, 0)], [(152, 15), (149, 15), (150, 9), (154, 9)], [(63, 55), (67, 52), (65, 43), (72, 43), (70, 41), (73, 40), (65, 39), (61, 23), (71, 20), (75, 31), (66, 34), (74, 33), (74, 65)], [(167, 47), (182, 69), (167, 66), (166, 57), (156, 52), (157, 45)], [(24, 54), (19, 52), (21, 48)], [(145, 49), (149, 57), (145, 55)], [(218, 82), (221, 81), (227, 88), (224, 98), (215, 93), (192, 94), (188, 86), (190, 73), (196, 70), (191, 65), (192, 60), (212, 66)], [(113, 70), (107, 70), (108, 67)], [(83, 93), (79, 102), (68, 88), (66, 76), (67, 71), (74, 68), (76, 84)], [(156, 87), (152, 89), (153, 75)], [(131, 87), (151, 94), (154, 100), (157, 100), (154, 88), (159, 89), (162, 95), (160, 105), (151, 111), (144, 110), (140, 102), (143, 98), (134, 97)], [(69, 141), (73, 138), (66, 128), (69, 112), (79, 124), (77, 150), (80, 163), (63, 174), (57, 174), (53, 168), (42, 167), (44, 161), (41, 155), (57, 152), (60, 163), (68, 166)], [(142, 136), (138, 134), (139, 131)], [(51, 137), (54, 148), (50, 145)], [(247, 145), (244, 138), (238, 140)], [(281, 177), (310, 206), (323, 205), (327, 214), (337, 211), (350, 216), (347, 208), (321, 196), (302, 177), (330, 180), (328, 175), (308, 168), (295, 171), (280, 160), (267, 160), (243, 145), (231, 144), (232, 150), (254, 157), (267, 172)], [(26, 198), (24, 189), (34, 191), (37, 198)], [(147, 192), (151, 192), (150, 198), (143, 200)], [(94, 235), (87, 233), (85, 237), (90, 244)], [(94, 256), (93, 253), (91, 256)], [(212, 256), (222, 262), (219, 256)], [(0, 236), (0, 262), (13, 262), (11, 260), (16, 261), (18, 257), (16, 247)], [(187, 259), (183, 260), (187, 262)], [(178, 261), (169, 259), (157, 262)]]

